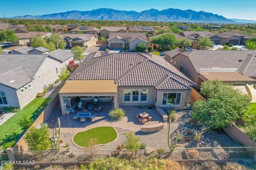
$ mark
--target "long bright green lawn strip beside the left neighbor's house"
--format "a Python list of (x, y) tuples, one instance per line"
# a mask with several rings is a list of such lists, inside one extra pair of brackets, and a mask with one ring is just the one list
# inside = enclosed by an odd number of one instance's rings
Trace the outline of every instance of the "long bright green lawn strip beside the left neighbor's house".
[(0, 146), (5, 147), (7, 142), (14, 142), (23, 132), (22, 128), (17, 125), (17, 122), (27, 113), (31, 118), (40, 114), (39, 107), (44, 108), (49, 104), (51, 98), (35, 98), (22, 111), (13, 115), (9, 120), (0, 126)]

